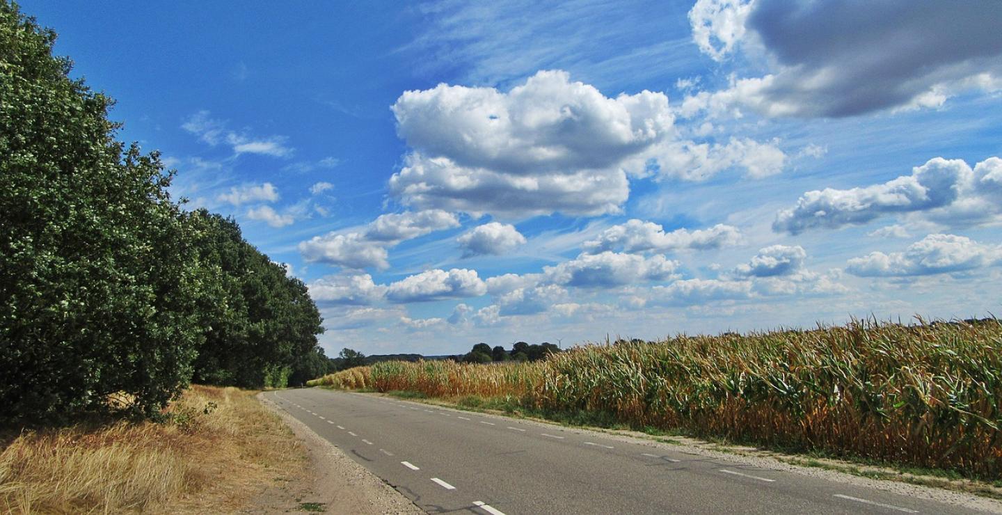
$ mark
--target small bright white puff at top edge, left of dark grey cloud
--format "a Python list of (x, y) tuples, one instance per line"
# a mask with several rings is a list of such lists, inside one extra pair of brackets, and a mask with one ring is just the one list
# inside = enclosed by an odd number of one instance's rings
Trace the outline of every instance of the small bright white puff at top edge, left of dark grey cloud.
[(750, 10), (750, 1), (696, 0), (688, 14), (692, 41), (713, 60), (723, 60), (744, 37), (744, 19)]

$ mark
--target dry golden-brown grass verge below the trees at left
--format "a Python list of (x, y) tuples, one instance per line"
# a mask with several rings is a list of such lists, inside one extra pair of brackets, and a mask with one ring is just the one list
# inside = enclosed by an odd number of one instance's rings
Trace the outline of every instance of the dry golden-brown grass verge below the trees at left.
[(304, 470), (254, 392), (192, 386), (165, 424), (26, 432), (0, 454), (0, 512), (218, 513)]

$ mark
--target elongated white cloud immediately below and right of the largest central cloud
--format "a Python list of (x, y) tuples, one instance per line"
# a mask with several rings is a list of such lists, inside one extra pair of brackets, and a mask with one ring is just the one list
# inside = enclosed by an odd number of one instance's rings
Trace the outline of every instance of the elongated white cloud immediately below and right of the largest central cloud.
[(657, 223), (633, 218), (605, 229), (595, 239), (585, 241), (582, 247), (589, 253), (606, 250), (628, 253), (669, 252), (686, 248), (719, 248), (739, 241), (740, 232), (737, 228), (722, 223), (707, 229), (689, 231), (679, 228), (664, 232), (664, 228)]

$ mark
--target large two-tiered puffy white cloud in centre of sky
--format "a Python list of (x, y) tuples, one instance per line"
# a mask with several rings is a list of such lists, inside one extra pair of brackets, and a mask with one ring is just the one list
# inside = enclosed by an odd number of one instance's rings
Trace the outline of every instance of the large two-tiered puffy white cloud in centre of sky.
[(540, 71), (501, 92), (439, 86), (406, 91), (393, 106), (413, 151), (390, 180), (417, 207), (511, 217), (616, 212), (628, 195), (620, 162), (669, 135), (663, 93), (609, 98)]

